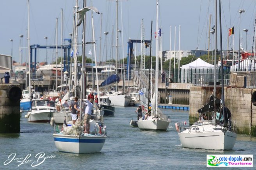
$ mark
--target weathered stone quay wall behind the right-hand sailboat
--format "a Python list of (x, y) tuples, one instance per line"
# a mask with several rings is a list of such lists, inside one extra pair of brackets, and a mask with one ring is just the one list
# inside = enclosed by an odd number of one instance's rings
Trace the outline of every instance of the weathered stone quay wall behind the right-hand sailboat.
[[(252, 94), (256, 89), (242, 87), (225, 87), (225, 106), (232, 114), (232, 121), (236, 123), (237, 133), (256, 136), (256, 106), (252, 104)], [(213, 87), (190, 88), (189, 121), (199, 118), (198, 109), (208, 103)], [(217, 87), (216, 96), (220, 99), (221, 88)], [(209, 115), (208, 115), (209, 116)]]

